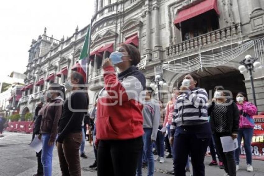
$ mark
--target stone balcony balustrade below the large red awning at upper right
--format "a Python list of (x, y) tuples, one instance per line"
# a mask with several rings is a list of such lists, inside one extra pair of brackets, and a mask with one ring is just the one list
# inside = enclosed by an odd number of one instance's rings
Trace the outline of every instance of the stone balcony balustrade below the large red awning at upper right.
[(197, 49), (210, 44), (218, 43), (239, 36), (241, 33), (240, 23), (214, 30), (198, 37), (185, 40), (179, 44), (166, 47), (166, 55), (180, 54), (192, 49)]

